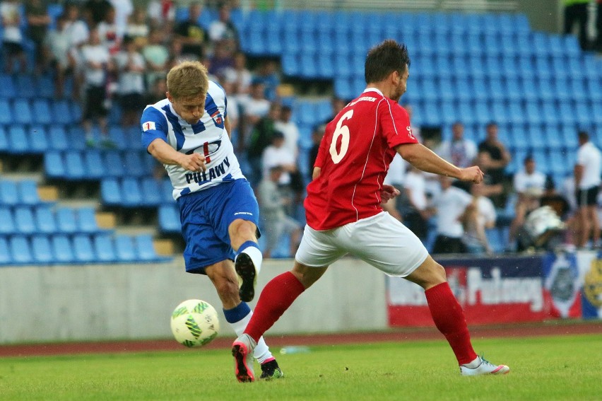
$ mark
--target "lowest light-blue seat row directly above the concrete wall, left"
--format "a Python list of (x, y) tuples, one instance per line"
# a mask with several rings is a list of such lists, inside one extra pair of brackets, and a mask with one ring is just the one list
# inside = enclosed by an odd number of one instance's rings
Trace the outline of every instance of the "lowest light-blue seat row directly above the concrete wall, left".
[(0, 265), (157, 262), (150, 235), (0, 236)]

